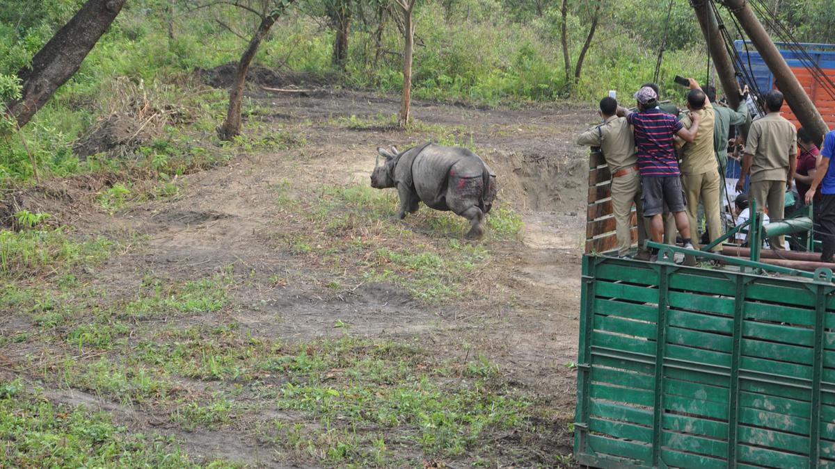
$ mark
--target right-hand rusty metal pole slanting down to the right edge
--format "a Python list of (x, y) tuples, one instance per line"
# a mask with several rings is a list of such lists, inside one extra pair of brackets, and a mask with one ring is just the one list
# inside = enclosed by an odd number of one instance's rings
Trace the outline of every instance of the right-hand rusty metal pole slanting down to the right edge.
[(821, 117), (821, 113), (817, 112), (812, 99), (809, 98), (800, 82), (797, 81), (797, 77), (792, 73), (786, 59), (777, 50), (777, 46), (772, 42), (766, 28), (762, 27), (762, 23), (751, 10), (747, 0), (725, 0), (724, 4), (739, 20), (741, 27), (745, 29), (748, 38), (751, 39), (751, 43), (754, 44), (754, 47), (762, 56), (762, 60), (774, 73), (777, 88), (780, 88), (780, 91), (786, 97), (786, 102), (792, 108), (794, 115), (797, 116), (797, 120), (805, 129), (808, 129), (810, 134), (815, 136), (815, 139), (820, 139), (823, 134), (829, 131), (826, 122)]

